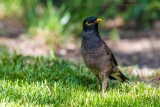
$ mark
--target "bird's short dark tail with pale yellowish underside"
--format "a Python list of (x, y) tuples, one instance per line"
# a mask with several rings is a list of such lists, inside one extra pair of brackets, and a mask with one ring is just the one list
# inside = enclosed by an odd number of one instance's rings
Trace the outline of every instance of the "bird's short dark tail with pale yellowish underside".
[(127, 82), (127, 83), (130, 83), (129, 81), (129, 78), (127, 78), (126, 76), (124, 76), (121, 71), (117, 71), (117, 72), (114, 72), (114, 73), (111, 73), (109, 75), (109, 78), (110, 79), (114, 79), (114, 80), (118, 80), (120, 82)]

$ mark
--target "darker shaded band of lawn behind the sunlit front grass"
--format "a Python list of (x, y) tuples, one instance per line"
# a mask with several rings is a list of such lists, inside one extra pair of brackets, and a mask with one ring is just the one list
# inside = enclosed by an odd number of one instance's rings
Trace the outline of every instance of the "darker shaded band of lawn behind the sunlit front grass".
[[(61, 81), (63, 85), (73, 83), (97, 91), (96, 76), (81, 64), (63, 59), (17, 55), (16, 52), (11, 55), (4, 47), (0, 48), (0, 57), (0, 79), (19, 79), (28, 83), (47, 80), (50, 85)], [(109, 81), (107, 90), (117, 88), (118, 84)]]

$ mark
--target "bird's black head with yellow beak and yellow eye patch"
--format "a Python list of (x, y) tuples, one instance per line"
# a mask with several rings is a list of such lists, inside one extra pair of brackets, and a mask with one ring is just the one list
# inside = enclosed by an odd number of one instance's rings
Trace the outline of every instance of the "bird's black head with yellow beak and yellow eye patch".
[(94, 16), (86, 18), (83, 21), (83, 30), (98, 30), (98, 22), (100, 21), (102, 20)]

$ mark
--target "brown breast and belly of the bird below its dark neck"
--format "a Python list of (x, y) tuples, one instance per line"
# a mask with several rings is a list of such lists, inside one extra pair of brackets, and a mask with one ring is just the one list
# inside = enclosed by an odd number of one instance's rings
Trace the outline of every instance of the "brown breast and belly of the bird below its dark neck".
[(81, 53), (86, 66), (98, 75), (100, 71), (108, 71), (110, 73), (112, 69), (111, 53), (105, 49), (105, 44), (101, 43), (98, 48), (88, 50), (82, 44)]

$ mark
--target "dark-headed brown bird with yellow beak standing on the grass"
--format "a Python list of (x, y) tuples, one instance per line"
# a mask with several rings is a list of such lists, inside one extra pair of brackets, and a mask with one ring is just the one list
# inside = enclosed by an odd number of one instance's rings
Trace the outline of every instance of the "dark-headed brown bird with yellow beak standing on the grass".
[(102, 19), (94, 16), (88, 17), (83, 21), (81, 54), (86, 66), (98, 78), (98, 87), (102, 95), (107, 87), (108, 78), (127, 83), (130, 81), (120, 71), (111, 49), (100, 37), (98, 23), (101, 21)]

